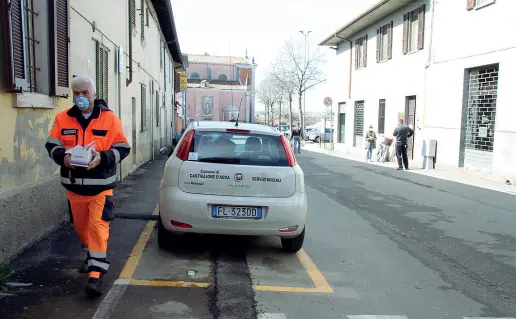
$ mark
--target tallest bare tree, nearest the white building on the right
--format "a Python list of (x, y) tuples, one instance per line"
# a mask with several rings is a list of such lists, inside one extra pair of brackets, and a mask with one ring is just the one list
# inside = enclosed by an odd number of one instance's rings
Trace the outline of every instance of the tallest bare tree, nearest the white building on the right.
[(319, 51), (319, 48), (307, 55), (306, 59), (304, 56), (303, 45), (294, 43), (292, 40), (286, 41), (276, 64), (280, 74), (291, 81), (298, 95), (299, 117), (303, 131), (305, 128), (302, 105), (303, 93), (326, 81), (326, 76), (321, 71), (322, 64), (325, 62), (324, 55)]

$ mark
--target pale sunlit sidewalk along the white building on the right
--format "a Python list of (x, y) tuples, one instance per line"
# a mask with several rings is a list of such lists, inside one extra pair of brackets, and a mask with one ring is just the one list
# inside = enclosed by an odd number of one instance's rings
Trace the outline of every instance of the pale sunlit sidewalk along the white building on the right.
[[(311, 151), (311, 152), (318, 152), (327, 154), (330, 156), (345, 158), (347, 160), (351, 161), (357, 161), (366, 163), (365, 161), (365, 150), (363, 152), (360, 152), (361, 150), (344, 150), (344, 149), (335, 149), (330, 150), (329, 149), (330, 144), (326, 143), (326, 149), (324, 148), (324, 144), (319, 146), (319, 144), (305, 143), (305, 146), (303, 147), (304, 151)], [(374, 156), (373, 156), (374, 157)], [(368, 165), (378, 165), (383, 167), (392, 167), (395, 169), (397, 167), (397, 162), (388, 162), (388, 163), (379, 163), (379, 162), (372, 162), (367, 163)], [(490, 189), (498, 192), (503, 192), (511, 195), (516, 195), (516, 186), (515, 185), (506, 185), (505, 181), (503, 181), (501, 178), (497, 178), (496, 176), (487, 175), (487, 174), (481, 174), (473, 171), (468, 171), (465, 169), (460, 168), (440, 168), (437, 167), (435, 169), (423, 169), (421, 163), (418, 163), (417, 161), (411, 162), (411, 169), (406, 171), (407, 173), (412, 174), (420, 174), (425, 175), (429, 177), (439, 178), (443, 180), (448, 180), (456, 183), (481, 187), (485, 189)]]

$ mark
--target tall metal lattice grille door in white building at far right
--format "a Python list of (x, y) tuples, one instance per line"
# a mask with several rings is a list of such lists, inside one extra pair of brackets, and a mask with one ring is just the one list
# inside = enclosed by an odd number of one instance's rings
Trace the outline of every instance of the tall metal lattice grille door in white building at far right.
[(467, 84), (464, 167), (485, 173), (490, 173), (493, 165), (498, 68), (470, 70)]

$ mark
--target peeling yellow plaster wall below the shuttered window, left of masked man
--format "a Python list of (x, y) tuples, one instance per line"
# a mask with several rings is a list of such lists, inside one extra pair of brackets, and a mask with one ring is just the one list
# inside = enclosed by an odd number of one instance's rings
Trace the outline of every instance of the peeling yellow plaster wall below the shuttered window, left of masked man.
[(56, 172), (45, 142), (55, 115), (71, 103), (57, 99), (53, 109), (17, 108), (12, 93), (0, 93), (0, 194)]

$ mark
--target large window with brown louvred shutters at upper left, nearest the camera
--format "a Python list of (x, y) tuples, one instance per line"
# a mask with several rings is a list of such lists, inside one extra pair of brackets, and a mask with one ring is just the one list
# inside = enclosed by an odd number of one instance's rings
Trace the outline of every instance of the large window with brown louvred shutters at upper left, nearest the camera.
[(70, 95), (68, 0), (0, 1), (4, 23), (5, 77), (9, 92)]

